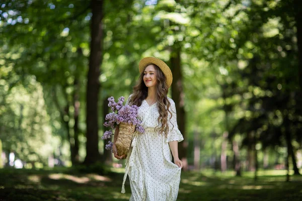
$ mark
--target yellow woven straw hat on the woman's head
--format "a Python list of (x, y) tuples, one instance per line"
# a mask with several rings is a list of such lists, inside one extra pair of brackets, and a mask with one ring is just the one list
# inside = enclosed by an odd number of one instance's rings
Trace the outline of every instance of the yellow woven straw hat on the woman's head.
[(160, 67), (160, 69), (163, 71), (164, 75), (166, 76), (166, 83), (169, 88), (172, 84), (173, 75), (172, 75), (172, 72), (171, 72), (169, 66), (161, 59), (158, 59), (155, 57), (145, 57), (145, 58), (141, 59), (138, 64), (139, 73), (142, 73), (144, 68), (150, 64), (155, 64), (158, 67)]

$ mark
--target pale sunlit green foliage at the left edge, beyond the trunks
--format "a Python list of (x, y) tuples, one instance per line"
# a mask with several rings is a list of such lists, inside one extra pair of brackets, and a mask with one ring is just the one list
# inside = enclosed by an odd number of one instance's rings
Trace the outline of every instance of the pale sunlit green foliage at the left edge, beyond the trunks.
[(4, 93), (0, 125), (3, 150), (15, 152), (16, 157), (27, 162), (47, 163), (59, 139), (52, 136), (49, 116), (45, 111), (42, 86), (34, 77), (26, 76), (22, 84), (10, 88), (12, 80), (2, 79)]

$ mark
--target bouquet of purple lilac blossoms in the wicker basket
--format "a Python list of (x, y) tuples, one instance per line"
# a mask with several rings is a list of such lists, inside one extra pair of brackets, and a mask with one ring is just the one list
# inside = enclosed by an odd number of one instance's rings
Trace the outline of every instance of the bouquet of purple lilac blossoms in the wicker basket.
[[(137, 106), (135, 106), (135, 105), (123, 106), (123, 103), (124, 103), (123, 96), (118, 98), (117, 103), (114, 101), (114, 97), (112, 97), (112, 96), (108, 98), (108, 101), (109, 101), (108, 107), (111, 108), (112, 113), (109, 113), (108, 115), (106, 115), (105, 120), (107, 122), (104, 123), (105, 127), (111, 127), (111, 129), (114, 130), (118, 125), (120, 125), (120, 126), (129, 125), (132, 128), (134, 128), (135, 131), (138, 131), (139, 133), (144, 133), (144, 129), (140, 125), (141, 121), (138, 119), (138, 107)], [(112, 130), (106, 131), (104, 133), (102, 139), (103, 140), (110, 139), (111, 136), (113, 135)], [(120, 133), (120, 131), (119, 131), (119, 133)], [(129, 136), (128, 139), (130, 139), (130, 137), (132, 138), (132, 136)], [(125, 144), (125, 142), (123, 142), (123, 144)], [(127, 144), (127, 142), (126, 142), (126, 144)], [(129, 144), (129, 142), (128, 142), (128, 144)], [(112, 151), (112, 145), (113, 145), (113, 143), (109, 141), (109, 144), (107, 144), (105, 148), (107, 150)]]

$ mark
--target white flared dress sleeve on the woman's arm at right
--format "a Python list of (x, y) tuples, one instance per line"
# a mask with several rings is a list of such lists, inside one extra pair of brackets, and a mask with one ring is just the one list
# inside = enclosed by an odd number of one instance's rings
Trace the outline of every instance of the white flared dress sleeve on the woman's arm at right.
[(168, 133), (168, 137), (166, 138), (166, 143), (171, 141), (181, 142), (184, 140), (184, 138), (180, 130), (178, 129), (175, 103), (171, 98), (169, 98), (169, 100), (171, 104), (170, 111), (172, 113), (172, 118), (170, 119), (171, 114), (168, 112), (169, 133)]

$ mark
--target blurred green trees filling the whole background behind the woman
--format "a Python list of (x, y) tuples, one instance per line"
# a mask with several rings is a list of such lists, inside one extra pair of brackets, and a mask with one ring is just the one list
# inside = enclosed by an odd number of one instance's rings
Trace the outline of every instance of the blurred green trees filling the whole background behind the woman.
[(185, 169), (299, 174), (300, 12), (298, 0), (2, 1), (4, 163), (110, 164), (107, 98), (128, 97), (155, 56), (173, 71)]

